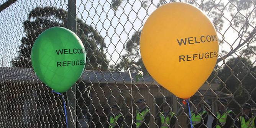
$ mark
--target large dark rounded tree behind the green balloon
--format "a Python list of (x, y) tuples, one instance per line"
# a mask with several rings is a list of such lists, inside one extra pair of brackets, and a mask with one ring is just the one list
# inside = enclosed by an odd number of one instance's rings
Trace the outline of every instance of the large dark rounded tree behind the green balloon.
[[(36, 7), (23, 22), (25, 37), (21, 39), (18, 57), (11, 60), (15, 67), (32, 68), (31, 50), (36, 38), (46, 29), (54, 26), (67, 28), (67, 12), (54, 7)], [(81, 19), (77, 19), (77, 36), (87, 51), (87, 70), (107, 70), (108, 60), (103, 53), (106, 48), (104, 39), (98, 32)]]

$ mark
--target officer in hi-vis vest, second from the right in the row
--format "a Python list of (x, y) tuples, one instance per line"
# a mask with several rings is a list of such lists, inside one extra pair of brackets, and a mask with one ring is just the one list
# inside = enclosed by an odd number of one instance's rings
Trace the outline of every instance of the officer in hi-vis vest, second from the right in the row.
[[(226, 105), (228, 104), (228, 100), (225, 98), (222, 98), (219, 100), (218, 108), (219, 111), (217, 112), (217, 118), (222, 123), (223, 128), (233, 128), (231, 127), (233, 125), (233, 121), (236, 117), (235, 113), (230, 110)], [(220, 128), (220, 125), (218, 124), (217, 120), (214, 119), (212, 122), (212, 128)]]

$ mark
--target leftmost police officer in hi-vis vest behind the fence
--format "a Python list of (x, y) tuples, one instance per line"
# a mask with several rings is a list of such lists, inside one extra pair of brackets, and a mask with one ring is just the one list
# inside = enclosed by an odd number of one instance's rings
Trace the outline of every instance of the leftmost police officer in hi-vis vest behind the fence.
[(123, 115), (116, 104), (112, 106), (112, 113), (106, 128), (123, 128)]

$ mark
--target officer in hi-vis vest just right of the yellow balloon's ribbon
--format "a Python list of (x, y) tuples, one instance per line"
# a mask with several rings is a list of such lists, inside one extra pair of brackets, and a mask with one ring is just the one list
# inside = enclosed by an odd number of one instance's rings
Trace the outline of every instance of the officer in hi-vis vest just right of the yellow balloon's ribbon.
[[(192, 102), (196, 109), (191, 111), (191, 120), (194, 128), (207, 128), (206, 124), (208, 121), (208, 113), (202, 109), (202, 104), (200, 100), (194, 100)], [(188, 128), (191, 128), (190, 120), (188, 120)]]

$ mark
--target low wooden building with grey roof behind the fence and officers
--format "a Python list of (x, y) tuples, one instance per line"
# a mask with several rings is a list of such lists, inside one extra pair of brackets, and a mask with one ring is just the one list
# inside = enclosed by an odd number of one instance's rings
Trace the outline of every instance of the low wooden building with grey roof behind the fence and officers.
[[(66, 123), (62, 97), (40, 81), (31, 68), (0, 68), (0, 110), (2, 120), (10, 126), (24, 127), (56, 127)], [(132, 78), (132, 80), (131, 80)], [(159, 85), (151, 76), (143, 76), (137, 83), (136, 73), (130, 75), (125, 72), (84, 71), (76, 82), (76, 115), (77, 127), (106, 125), (110, 116), (110, 107), (118, 104), (126, 118), (126, 124), (131, 124), (132, 114), (137, 107), (134, 101), (139, 98), (146, 100), (151, 113), (150, 126), (155, 127), (161, 105), (166, 100), (171, 103), (172, 111), (177, 114), (179, 125), (186, 126), (188, 112), (187, 105), (174, 96), (170, 91)], [(215, 99), (230, 97), (228, 94), (217, 91), (218, 84), (203, 84), (199, 91), (190, 100), (204, 97), (210, 102), (213, 113), (217, 112)], [(132, 90), (132, 91), (130, 91)], [(66, 93), (63, 93), (67, 100)], [(132, 98), (133, 97), (133, 98)], [(68, 105), (68, 104), (67, 104)], [(68, 107), (68, 106), (67, 106)], [(131, 108), (133, 108), (133, 113)], [(184, 108), (184, 109), (182, 109)]]

